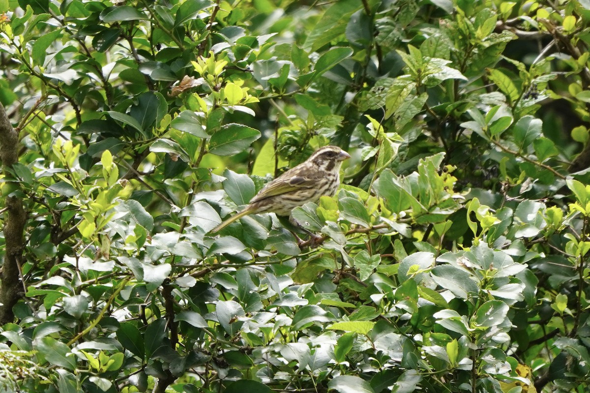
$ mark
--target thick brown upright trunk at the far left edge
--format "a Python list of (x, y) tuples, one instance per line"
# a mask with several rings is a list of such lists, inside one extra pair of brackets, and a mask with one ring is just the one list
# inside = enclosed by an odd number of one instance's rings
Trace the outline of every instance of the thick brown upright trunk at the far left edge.
[[(12, 128), (4, 106), (0, 104), (0, 160), (6, 178), (12, 175), (8, 169), (18, 160), (18, 133)], [(20, 266), (22, 250), (24, 249), (24, 229), (27, 213), (22, 206), (22, 199), (9, 192), (18, 183), (6, 183), (2, 189), (5, 194), (6, 209), (4, 221), (4, 237), (6, 251), (4, 265), (0, 270), (0, 325), (14, 321), (12, 307), (17, 304), (22, 295), (20, 285)]]

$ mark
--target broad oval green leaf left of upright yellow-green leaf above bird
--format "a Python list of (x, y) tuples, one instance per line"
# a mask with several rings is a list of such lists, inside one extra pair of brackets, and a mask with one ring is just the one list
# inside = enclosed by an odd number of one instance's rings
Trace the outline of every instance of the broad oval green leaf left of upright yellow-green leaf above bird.
[(209, 153), (217, 156), (233, 156), (245, 151), (260, 138), (260, 131), (242, 124), (227, 124), (211, 136)]

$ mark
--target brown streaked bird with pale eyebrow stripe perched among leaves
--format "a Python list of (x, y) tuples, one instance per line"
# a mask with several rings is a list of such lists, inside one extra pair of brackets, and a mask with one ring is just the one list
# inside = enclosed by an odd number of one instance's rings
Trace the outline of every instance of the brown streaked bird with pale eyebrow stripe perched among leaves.
[(277, 216), (289, 216), (297, 206), (317, 202), (322, 195), (333, 196), (340, 184), (342, 161), (347, 158), (350, 158), (350, 154), (340, 147), (319, 148), (306, 161), (266, 184), (244, 210), (211, 232), (215, 233), (247, 214), (276, 213)]

